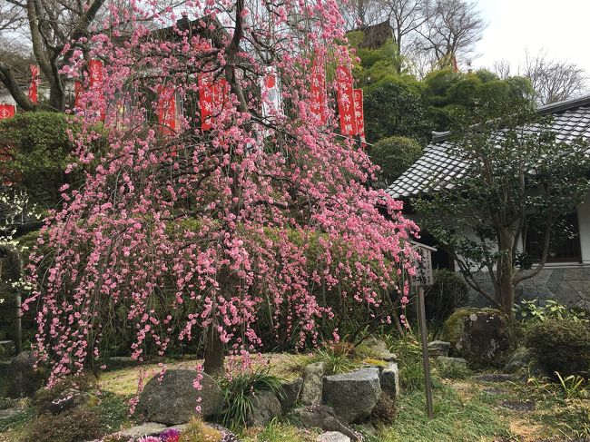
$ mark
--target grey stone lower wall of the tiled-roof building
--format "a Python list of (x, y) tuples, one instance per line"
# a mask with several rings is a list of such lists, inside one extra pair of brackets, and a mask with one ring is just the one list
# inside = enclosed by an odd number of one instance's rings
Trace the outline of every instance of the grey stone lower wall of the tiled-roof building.
[[(478, 283), (493, 293), (489, 276), (476, 275)], [(590, 266), (553, 267), (541, 270), (535, 278), (523, 280), (516, 286), (517, 300), (556, 300), (568, 307), (590, 309)], [(484, 297), (473, 291), (469, 303), (474, 307), (487, 307)]]

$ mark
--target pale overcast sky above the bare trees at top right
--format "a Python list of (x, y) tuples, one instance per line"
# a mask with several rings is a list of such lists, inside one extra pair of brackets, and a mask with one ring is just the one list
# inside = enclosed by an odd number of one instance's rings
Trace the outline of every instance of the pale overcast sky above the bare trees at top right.
[(516, 74), (529, 54), (546, 50), (590, 74), (590, 0), (475, 0), (487, 29), (477, 44), (474, 67), (506, 59)]

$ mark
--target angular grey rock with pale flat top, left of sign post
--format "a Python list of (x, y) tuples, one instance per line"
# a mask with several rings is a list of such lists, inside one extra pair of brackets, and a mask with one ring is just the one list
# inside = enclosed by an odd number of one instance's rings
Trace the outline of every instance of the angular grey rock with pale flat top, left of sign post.
[(324, 403), (347, 422), (369, 417), (380, 395), (379, 368), (361, 368), (324, 378)]

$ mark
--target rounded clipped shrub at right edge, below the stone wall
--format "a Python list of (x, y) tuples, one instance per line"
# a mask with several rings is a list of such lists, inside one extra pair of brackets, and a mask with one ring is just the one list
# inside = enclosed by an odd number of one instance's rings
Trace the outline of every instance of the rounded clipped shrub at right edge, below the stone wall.
[(590, 325), (585, 322), (550, 319), (531, 324), (526, 347), (547, 375), (584, 375), (590, 370)]

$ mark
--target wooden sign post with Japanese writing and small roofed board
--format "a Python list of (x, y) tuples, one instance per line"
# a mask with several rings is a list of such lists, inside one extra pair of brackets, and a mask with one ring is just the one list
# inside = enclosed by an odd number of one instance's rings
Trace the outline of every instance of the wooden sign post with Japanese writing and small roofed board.
[(436, 249), (418, 242), (413, 243), (420, 254), (421, 260), (417, 262), (416, 276), (412, 277), (412, 287), (418, 288), (418, 321), (420, 325), (420, 340), (422, 341), (422, 362), (424, 364), (424, 382), (426, 387), (426, 409), (428, 418), (434, 418), (434, 406), (432, 404), (432, 381), (430, 378), (430, 359), (428, 359), (428, 329), (426, 324), (426, 309), (424, 308), (424, 288), (433, 283), (432, 275), (432, 251)]

